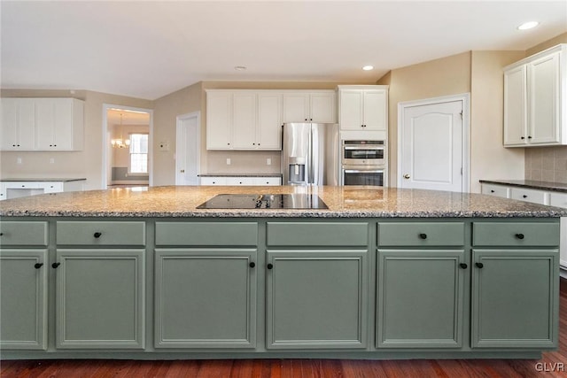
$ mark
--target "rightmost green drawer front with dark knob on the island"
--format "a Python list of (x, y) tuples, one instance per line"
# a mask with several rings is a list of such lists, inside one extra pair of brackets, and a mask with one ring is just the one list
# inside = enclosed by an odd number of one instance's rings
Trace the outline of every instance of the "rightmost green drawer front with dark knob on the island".
[(472, 225), (472, 245), (556, 247), (559, 245), (559, 223), (475, 222)]

